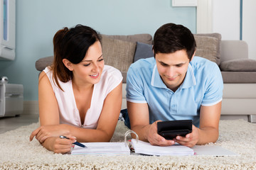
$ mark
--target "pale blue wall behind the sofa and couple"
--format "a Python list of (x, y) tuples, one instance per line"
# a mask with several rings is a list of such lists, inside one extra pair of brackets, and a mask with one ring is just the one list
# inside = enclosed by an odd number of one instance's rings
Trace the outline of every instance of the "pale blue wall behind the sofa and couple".
[(170, 0), (16, 0), (16, 58), (0, 61), (0, 77), (23, 84), (24, 101), (38, 100), (35, 62), (53, 55), (53, 35), (78, 23), (103, 34), (154, 35), (164, 23), (196, 33), (196, 7), (172, 7)]

